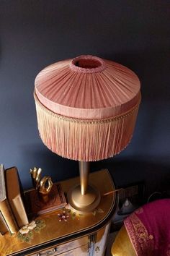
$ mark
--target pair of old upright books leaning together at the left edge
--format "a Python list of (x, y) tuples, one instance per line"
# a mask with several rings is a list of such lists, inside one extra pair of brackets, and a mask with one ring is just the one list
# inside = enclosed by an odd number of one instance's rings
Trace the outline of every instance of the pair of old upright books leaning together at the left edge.
[(0, 166), (0, 233), (14, 234), (29, 223), (16, 167)]

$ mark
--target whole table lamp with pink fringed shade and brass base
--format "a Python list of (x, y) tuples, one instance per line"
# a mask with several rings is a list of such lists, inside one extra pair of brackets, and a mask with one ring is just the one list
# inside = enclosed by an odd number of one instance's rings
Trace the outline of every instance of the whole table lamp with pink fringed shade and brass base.
[(79, 161), (80, 184), (68, 192), (68, 202), (81, 212), (94, 210), (100, 194), (89, 185), (89, 163), (130, 142), (141, 98), (137, 75), (114, 61), (78, 56), (42, 69), (34, 96), (42, 142)]

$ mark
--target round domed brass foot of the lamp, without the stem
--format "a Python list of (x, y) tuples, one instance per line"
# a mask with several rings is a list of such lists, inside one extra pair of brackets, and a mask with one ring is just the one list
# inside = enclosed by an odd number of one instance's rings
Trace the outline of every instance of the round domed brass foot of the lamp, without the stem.
[(81, 186), (77, 185), (68, 192), (68, 202), (72, 208), (81, 213), (88, 213), (99, 205), (99, 191), (95, 187), (88, 186), (86, 194), (81, 195)]

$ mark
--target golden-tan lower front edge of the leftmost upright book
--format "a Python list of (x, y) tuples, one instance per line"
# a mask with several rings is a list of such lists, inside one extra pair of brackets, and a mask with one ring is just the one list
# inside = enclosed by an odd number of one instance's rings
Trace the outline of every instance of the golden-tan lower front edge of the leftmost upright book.
[(18, 226), (16, 221), (14, 220), (12, 210), (7, 200), (0, 202), (0, 211), (1, 211), (1, 216), (3, 216), (3, 221), (5, 221), (8, 230), (12, 234), (16, 233), (18, 231)]

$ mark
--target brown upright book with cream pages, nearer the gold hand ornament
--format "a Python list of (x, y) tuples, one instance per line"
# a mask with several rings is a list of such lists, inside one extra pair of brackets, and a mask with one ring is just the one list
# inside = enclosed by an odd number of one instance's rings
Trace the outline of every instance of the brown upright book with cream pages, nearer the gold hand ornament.
[(6, 194), (9, 201), (9, 205), (12, 208), (14, 218), (17, 221), (17, 225), (21, 228), (29, 223), (27, 213), (24, 208), (24, 202), (19, 186), (19, 175), (16, 167), (8, 168), (5, 171), (6, 174)]

